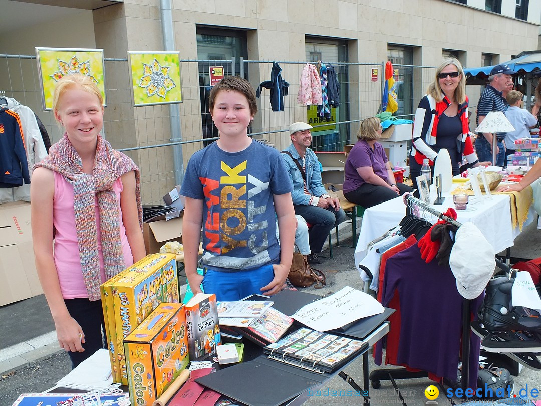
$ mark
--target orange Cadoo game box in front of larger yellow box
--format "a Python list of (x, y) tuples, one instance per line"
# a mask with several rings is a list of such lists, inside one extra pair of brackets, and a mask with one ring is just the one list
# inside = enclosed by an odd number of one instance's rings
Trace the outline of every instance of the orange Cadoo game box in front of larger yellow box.
[(158, 305), (126, 337), (124, 352), (131, 404), (153, 404), (188, 366), (183, 305)]

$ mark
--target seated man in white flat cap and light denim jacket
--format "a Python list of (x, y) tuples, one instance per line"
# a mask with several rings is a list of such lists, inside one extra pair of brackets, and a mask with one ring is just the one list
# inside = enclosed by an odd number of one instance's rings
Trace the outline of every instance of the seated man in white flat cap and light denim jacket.
[(291, 145), (282, 151), (282, 158), (293, 185), (291, 197), (295, 214), (300, 214), (306, 222), (312, 224), (308, 231), (310, 250), (309, 264), (319, 264), (321, 252), (327, 234), (333, 227), (346, 218), (340, 208), (340, 201), (331, 198), (321, 183), (321, 170), (318, 158), (308, 148), (312, 143), (312, 126), (296, 122), (289, 126)]

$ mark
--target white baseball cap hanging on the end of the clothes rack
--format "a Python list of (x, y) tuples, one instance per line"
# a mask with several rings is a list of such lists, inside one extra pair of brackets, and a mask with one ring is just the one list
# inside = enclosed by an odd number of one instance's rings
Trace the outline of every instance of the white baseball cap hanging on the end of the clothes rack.
[(479, 228), (466, 221), (458, 228), (449, 256), (457, 290), (466, 299), (475, 299), (485, 289), (496, 268), (494, 248)]

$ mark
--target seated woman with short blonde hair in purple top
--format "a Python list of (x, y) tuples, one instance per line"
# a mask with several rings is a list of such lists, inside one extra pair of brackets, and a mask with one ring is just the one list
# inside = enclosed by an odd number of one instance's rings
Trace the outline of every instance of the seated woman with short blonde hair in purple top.
[(357, 143), (344, 168), (344, 197), (363, 207), (372, 207), (413, 189), (394, 180), (391, 164), (378, 142), (383, 128), (377, 117), (361, 122)]

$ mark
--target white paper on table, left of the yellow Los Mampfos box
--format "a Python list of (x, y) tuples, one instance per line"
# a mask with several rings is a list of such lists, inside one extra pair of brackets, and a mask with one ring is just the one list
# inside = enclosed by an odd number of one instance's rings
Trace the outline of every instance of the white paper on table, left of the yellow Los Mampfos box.
[(79, 389), (103, 389), (113, 383), (109, 352), (97, 350), (81, 364), (77, 365), (68, 375), (64, 376), (58, 385)]

